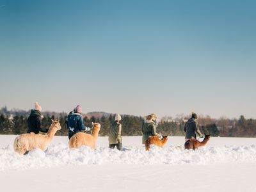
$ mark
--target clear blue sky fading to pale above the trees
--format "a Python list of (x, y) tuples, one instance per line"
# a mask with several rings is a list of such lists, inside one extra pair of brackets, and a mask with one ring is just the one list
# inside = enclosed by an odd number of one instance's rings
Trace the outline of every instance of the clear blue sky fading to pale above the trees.
[(255, 9), (0, 0), (0, 107), (256, 118)]

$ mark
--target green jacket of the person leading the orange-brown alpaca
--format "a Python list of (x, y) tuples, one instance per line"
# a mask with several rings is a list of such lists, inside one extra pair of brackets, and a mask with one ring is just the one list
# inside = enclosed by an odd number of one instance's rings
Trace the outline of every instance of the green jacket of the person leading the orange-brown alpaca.
[(145, 141), (150, 137), (150, 136), (158, 136), (160, 137), (161, 134), (158, 134), (156, 132), (156, 123), (152, 120), (145, 120), (142, 124), (142, 144), (145, 144)]

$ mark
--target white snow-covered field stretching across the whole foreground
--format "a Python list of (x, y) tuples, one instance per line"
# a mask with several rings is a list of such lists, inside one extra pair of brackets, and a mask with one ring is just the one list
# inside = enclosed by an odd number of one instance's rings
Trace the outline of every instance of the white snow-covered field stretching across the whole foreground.
[(46, 152), (13, 152), (15, 136), (0, 135), (1, 191), (256, 191), (256, 138), (211, 138), (205, 147), (184, 150), (170, 136), (164, 148), (145, 152), (141, 137), (124, 137), (124, 151), (69, 150), (56, 136)]

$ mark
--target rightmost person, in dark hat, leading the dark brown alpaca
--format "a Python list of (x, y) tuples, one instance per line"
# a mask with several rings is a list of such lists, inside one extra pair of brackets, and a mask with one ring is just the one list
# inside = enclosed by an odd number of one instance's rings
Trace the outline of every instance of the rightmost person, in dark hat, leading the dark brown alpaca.
[(189, 118), (184, 126), (184, 131), (186, 132), (185, 141), (196, 139), (196, 133), (200, 136), (200, 138), (203, 137), (199, 130), (196, 113), (192, 112), (191, 118)]

